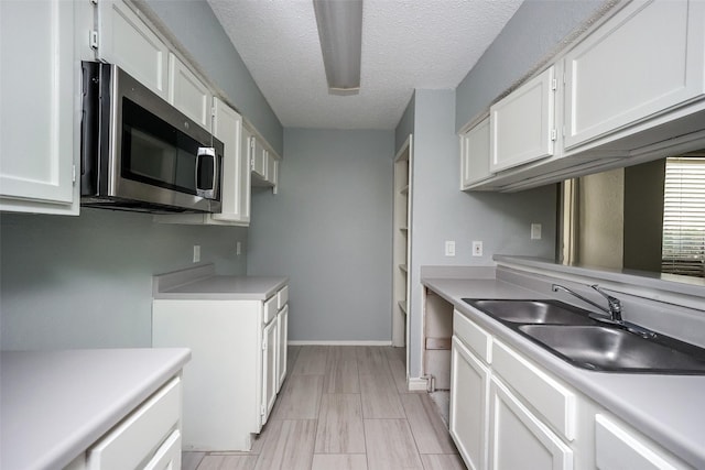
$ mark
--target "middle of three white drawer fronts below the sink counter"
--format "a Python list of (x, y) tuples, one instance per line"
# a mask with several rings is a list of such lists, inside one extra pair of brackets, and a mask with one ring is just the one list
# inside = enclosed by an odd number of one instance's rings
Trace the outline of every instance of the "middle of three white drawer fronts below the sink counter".
[(566, 439), (575, 438), (575, 394), (500, 341), (492, 341), (492, 369)]

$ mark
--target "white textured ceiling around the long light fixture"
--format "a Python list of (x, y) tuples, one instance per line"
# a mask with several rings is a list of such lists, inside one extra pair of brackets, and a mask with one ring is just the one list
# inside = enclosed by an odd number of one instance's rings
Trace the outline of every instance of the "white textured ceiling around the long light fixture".
[(311, 0), (208, 0), (285, 128), (393, 129), (414, 88), (453, 89), (522, 0), (365, 0), (359, 95), (329, 95)]

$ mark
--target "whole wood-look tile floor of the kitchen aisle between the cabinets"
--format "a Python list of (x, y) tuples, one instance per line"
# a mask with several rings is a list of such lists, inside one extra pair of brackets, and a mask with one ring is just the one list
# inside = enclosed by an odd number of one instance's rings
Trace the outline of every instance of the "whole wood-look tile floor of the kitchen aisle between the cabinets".
[(464, 470), (441, 413), (409, 392), (404, 350), (292, 346), (250, 452), (184, 452), (184, 470)]

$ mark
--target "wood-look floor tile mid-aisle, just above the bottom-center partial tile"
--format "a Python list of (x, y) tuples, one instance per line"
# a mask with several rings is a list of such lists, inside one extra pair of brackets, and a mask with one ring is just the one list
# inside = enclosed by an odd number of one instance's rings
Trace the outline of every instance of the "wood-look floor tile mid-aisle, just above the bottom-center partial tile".
[(316, 453), (365, 453), (359, 394), (324, 394), (316, 430)]

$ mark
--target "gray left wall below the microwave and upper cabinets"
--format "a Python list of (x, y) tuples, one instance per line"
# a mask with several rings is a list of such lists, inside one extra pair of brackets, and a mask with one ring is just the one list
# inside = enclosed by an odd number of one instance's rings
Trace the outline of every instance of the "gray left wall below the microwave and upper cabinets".
[(144, 214), (2, 214), (2, 349), (151, 346), (152, 275), (202, 262), (245, 274), (247, 230), (172, 226)]

